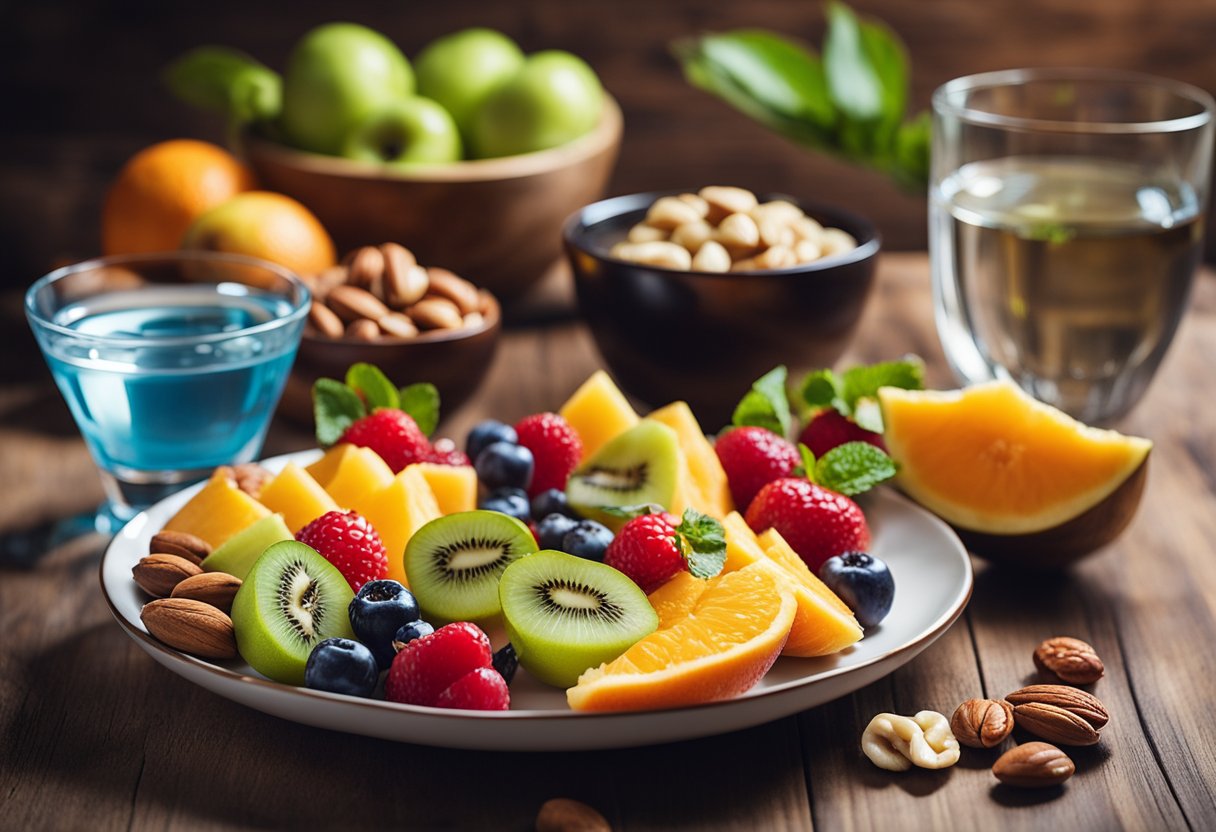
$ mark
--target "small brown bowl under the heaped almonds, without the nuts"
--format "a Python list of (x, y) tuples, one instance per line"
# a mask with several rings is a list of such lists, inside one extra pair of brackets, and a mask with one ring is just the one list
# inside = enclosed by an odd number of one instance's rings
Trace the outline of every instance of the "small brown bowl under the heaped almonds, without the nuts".
[(482, 326), (435, 330), (413, 338), (376, 342), (334, 341), (304, 333), (295, 365), (287, 380), (278, 412), (300, 425), (313, 425), (313, 382), (343, 380), (351, 364), (366, 361), (384, 371), (399, 387), (430, 382), (439, 389), (443, 416), (451, 416), (485, 378), (502, 331), (497, 299), (482, 291)]

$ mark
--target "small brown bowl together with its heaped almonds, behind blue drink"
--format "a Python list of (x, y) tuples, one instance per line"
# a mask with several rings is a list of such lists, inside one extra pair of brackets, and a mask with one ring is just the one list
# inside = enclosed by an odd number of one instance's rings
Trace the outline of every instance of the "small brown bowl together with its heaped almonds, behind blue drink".
[(396, 384), (430, 382), (445, 414), (465, 403), (494, 360), (497, 299), (449, 269), (418, 263), (399, 243), (362, 246), (305, 276), (313, 308), (280, 412), (313, 423), (313, 383), (366, 361)]

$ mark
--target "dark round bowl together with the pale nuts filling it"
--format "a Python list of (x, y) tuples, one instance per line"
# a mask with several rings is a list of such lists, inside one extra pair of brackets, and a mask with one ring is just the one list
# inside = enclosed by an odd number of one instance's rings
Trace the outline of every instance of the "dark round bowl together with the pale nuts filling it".
[(596, 202), (564, 241), (579, 309), (625, 392), (685, 399), (708, 429), (773, 366), (835, 362), (880, 248), (845, 210), (727, 186)]

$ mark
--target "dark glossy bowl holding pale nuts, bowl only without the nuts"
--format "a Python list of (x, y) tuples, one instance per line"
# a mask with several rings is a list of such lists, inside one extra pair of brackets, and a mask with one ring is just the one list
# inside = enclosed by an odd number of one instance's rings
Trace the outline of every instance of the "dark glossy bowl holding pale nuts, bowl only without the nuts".
[[(672, 191), (671, 193), (677, 193)], [(567, 220), (565, 252), (579, 309), (626, 393), (649, 405), (683, 399), (706, 429), (730, 421), (751, 382), (778, 364), (792, 376), (832, 366), (866, 305), (880, 246), (867, 220), (789, 197), (851, 252), (788, 269), (710, 274), (641, 265), (609, 254), (666, 192), (587, 206)]]

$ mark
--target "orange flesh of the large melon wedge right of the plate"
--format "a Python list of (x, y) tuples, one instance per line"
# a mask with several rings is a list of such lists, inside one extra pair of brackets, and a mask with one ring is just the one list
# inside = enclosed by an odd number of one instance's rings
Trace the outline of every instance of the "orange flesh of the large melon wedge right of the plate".
[(1111, 496), (1153, 448), (1087, 427), (1007, 381), (884, 387), (878, 400), (899, 485), (946, 522), (987, 534), (1060, 527)]

